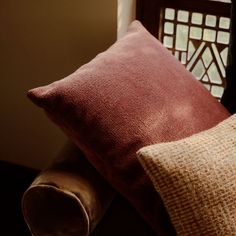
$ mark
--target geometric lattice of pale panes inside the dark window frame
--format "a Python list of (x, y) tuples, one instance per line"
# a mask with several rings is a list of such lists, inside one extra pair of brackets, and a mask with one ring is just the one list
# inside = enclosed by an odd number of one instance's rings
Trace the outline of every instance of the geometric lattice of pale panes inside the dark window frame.
[(193, 75), (220, 99), (225, 84), (230, 19), (162, 8), (159, 39)]

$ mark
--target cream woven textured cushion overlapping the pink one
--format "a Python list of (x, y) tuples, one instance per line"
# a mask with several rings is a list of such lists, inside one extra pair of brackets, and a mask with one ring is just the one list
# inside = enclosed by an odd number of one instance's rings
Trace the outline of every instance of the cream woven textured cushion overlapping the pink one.
[(236, 235), (236, 115), (137, 154), (178, 235)]

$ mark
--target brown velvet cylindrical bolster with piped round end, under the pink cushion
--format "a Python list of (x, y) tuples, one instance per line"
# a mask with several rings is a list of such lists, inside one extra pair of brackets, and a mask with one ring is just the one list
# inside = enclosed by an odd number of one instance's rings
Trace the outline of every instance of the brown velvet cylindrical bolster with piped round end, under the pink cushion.
[(68, 142), (25, 191), (22, 209), (35, 236), (87, 236), (114, 196), (82, 152)]

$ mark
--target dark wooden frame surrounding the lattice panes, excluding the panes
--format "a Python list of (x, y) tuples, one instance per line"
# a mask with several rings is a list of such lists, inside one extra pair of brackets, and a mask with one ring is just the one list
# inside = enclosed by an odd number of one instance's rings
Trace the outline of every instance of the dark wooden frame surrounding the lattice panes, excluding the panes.
[[(226, 86), (222, 104), (231, 112), (236, 112), (236, 0), (221, 2), (220, 0), (137, 0), (136, 19), (156, 38), (160, 39), (164, 8), (174, 8), (210, 14), (222, 17), (231, 17), (230, 44), (228, 65), (226, 67)], [(225, 83), (225, 82), (224, 82)]]

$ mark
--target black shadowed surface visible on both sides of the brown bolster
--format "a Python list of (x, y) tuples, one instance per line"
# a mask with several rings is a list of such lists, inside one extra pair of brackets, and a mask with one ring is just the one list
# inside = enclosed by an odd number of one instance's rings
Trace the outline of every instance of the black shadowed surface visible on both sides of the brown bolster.
[[(0, 161), (0, 235), (31, 236), (23, 219), (21, 198), (37, 170)], [(154, 236), (130, 204), (118, 196), (91, 236)]]

